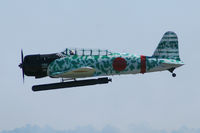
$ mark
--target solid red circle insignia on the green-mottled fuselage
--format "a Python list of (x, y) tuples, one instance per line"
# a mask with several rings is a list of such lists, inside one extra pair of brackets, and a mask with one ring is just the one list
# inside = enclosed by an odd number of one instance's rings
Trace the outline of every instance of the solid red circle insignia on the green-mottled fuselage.
[(123, 71), (127, 66), (127, 62), (124, 58), (117, 57), (113, 61), (113, 68), (116, 71)]

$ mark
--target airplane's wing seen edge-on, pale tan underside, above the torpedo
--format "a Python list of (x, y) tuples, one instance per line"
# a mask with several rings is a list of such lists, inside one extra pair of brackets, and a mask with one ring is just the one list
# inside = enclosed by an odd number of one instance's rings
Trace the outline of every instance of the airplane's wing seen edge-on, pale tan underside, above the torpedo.
[(78, 69), (74, 69), (72, 71), (67, 72), (56, 72), (52, 73), (50, 77), (54, 78), (84, 78), (91, 77), (95, 73), (95, 69), (92, 67), (82, 67)]

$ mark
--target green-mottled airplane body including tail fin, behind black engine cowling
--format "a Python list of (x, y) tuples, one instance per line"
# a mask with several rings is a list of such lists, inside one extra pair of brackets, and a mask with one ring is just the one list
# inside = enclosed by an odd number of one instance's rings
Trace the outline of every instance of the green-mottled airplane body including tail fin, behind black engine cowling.
[(78, 55), (75, 52), (74, 55), (64, 54), (63, 58), (51, 62), (47, 69), (47, 75), (80, 78), (163, 70), (173, 72), (175, 68), (182, 65), (178, 50), (178, 37), (176, 33), (168, 31), (163, 35), (152, 56), (111, 52), (109, 54), (106, 52), (106, 55), (92, 55), (92, 51), (90, 55), (85, 55), (84, 52), (82, 55)]

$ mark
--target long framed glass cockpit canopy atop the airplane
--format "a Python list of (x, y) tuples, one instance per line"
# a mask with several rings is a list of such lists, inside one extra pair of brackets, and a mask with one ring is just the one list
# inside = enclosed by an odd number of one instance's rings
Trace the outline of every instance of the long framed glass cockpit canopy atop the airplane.
[(112, 52), (108, 50), (100, 49), (77, 49), (77, 48), (66, 48), (63, 52), (64, 55), (110, 55)]

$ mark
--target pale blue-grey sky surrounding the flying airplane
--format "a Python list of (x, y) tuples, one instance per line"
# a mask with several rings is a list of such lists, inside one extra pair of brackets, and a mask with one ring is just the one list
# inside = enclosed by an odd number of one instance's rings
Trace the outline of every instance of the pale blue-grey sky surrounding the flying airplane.
[[(200, 128), (199, 0), (0, 1), (0, 131), (27, 124), (56, 130), (107, 125), (120, 131), (149, 127)], [(20, 50), (48, 54), (67, 47), (152, 55), (175, 31), (186, 64), (171, 73), (114, 76), (106, 85), (32, 92), (59, 79), (25, 77)], [(144, 126), (143, 126), (144, 125)], [(30, 126), (31, 127), (31, 126)]]

